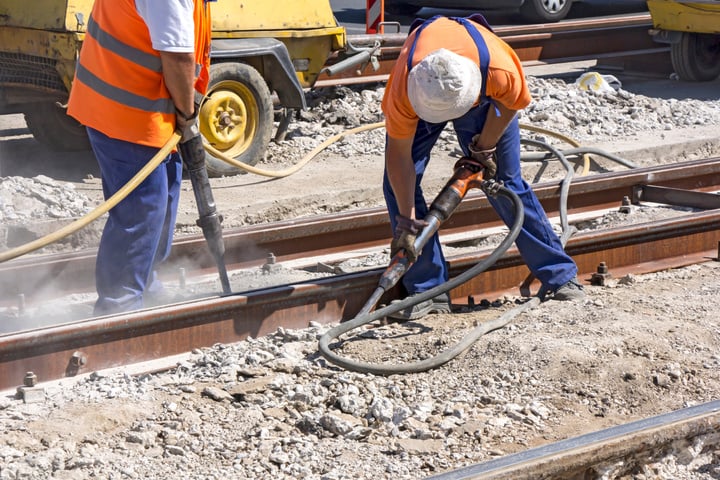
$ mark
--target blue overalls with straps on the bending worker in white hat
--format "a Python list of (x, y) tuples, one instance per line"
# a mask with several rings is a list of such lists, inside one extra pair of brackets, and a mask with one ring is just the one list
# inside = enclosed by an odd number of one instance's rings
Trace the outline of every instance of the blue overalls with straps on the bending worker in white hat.
[[(439, 17), (433, 17), (419, 26), (415, 35), (413, 45), (408, 54), (408, 71), (412, 68), (412, 57), (422, 29)], [(482, 73), (482, 92), (480, 104), (473, 107), (460, 118), (452, 120), (453, 128), (457, 135), (460, 148), (463, 154), (470, 156), (468, 145), (472, 137), (481, 132), (485, 124), (488, 109), (492, 101), (485, 97), (485, 85), (487, 79), (487, 68), (490, 62), (490, 55), (485, 41), (478, 30), (470, 23), (487, 26), (487, 22), (480, 15), (473, 15), (466, 18), (449, 17), (463, 25), (475, 41), (480, 58), (480, 71)], [(411, 27), (414, 29), (417, 22)], [(423, 195), (421, 182), (425, 168), (430, 161), (430, 151), (437, 142), (440, 133), (447, 122), (428, 123), (420, 119), (412, 145), (412, 158), (415, 164), (415, 215), (417, 218), (424, 218), (428, 213), (428, 204)], [(554, 291), (569, 282), (577, 275), (575, 262), (565, 253), (560, 238), (553, 231), (552, 225), (547, 218), (542, 205), (530, 188), (530, 185), (522, 178), (520, 168), (520, 127), (517, 116), (510, 123), (498, 141), (496, 150), (497, 175), (496, 179), (503, 182), (505, 187), (515, 192), (521, 199), (525, 209), (525, 221), (523, 227), (515, 240), (520, 255), (527, 264), (535, 278), (542, 282), (542, 288)], [(390, 186), (390, 181), (385, 172), (383, 178), (383, 192), (387, 204), (390, 222), (395, 230), (395, 216), (399, 213), (397, 201)], [(513, 224), (513, 206), (510, 200), (505, 197), (489, 197), (490, 204), (498, 213), (506, 225)], [(417, 262), (407, 271), (402, 278), (402, 283), (409, 295), (424, 292), (448, 280), (449, 273), (445, 257), (440, 246), (440, 240), (436, 233), (425, 245), (422, 254)]]

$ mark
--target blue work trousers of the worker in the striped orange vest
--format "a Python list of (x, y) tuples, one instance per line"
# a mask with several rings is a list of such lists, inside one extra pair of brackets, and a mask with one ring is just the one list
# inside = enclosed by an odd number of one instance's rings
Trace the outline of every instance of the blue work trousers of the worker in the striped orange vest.
[[(159, 151), (88, 128), (107, 200)], [(95, 315), (143, 307), (143, 295), (162, 289), (157, 266), (170, 255), (182, 160), (172, 153), (108, 213), (95, 264)]]

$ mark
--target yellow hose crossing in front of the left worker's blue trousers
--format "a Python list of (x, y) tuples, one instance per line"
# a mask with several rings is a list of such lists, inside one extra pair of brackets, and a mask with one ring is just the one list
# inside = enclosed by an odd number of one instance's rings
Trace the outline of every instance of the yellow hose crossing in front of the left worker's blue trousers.
[(88, 225), (93, 220), (97, 219), (99, 216), (108, 212), (111, 208), (120, 203), (122, 199), (127, 197), (130, 192), (135, 190), (135, 188), (137, 188), (137, 186), (142, 183), (142, 181), (145, 180), (147, 176), (150, 175), (150, 173), (152, 173), (155, 168), (157, 168), (158, 165), (160, 165), (160, 162), (165, 160), (165, 157), (170, 154), (170, 152), (173, 150), (173, 148), (175, 148), (175, 145), (177, 145), (179, 141), (180, 134), (178, 134), (177, 132), (173, 133), (172, 137), (170, 137), (170, 140), (167, 141), (167, 143), (160, 149), (160, 151), (156, 153), (155, 156), (151, 158), (150, 161), (138, 173), (136, 173), (133, 178), (131, 178), (125, 185), (123, 185), (120, 190), (115, 192), (112, 197), (108, 198), (104, 203), (97, 206), (87, 215), (78, 218), (74, 222), (64, 226), (56, 232), (0, 253), (0, 263), (19, 257), (20, 255), (25, 255), (28, 252), (38, 250), (42, 247), (45, 247), (53, 242), (60, 240), (63, 237), (73, 234)]

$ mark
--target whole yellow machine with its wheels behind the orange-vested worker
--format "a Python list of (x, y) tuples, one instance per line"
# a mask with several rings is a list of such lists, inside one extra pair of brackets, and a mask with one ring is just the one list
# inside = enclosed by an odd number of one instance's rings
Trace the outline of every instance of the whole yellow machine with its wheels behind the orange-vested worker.
[[(23, 113), (35, 138), (53, 149), (88, 147), (84, 128), (64, 106), (92, 4), (0, 2), (0, 114)], [(331, 52), (345, 49), (345, 29), (329, 0), (223, 0), (211, 8), (211, 79), (201, 132), (224, 155), (255, 165), (272, 135), (273, 95), (286, 115), (305, 108), (304, 89)], [(287, 128), (285, 121), (280, 125)], [(206, 164), (213, 176), (238, 173), (209, 155)]]

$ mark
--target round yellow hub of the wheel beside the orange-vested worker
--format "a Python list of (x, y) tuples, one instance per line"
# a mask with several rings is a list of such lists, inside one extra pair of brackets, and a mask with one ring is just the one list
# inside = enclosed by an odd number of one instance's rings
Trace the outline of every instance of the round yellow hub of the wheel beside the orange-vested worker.
[(200, 107), (200, 132), (208, 143), (231, 157), (250, 146), (257, 122), (255, 99), (237, 82), (214, 85)]

